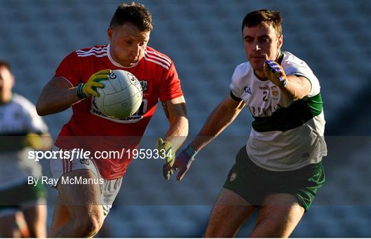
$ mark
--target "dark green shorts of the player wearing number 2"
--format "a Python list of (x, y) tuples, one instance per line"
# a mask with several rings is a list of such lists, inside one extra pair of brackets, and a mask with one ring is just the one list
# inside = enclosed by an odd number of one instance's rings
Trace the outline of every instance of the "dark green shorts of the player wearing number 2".
[(236, 163), (229, 171), (224, 187), (254, 206), (262, 205), (267, 194), (291, 194), (306, 211), (324, 181), (322, 162), (292, 171), (265, 170), (249, 159), (244, 146), (236, 156)]

